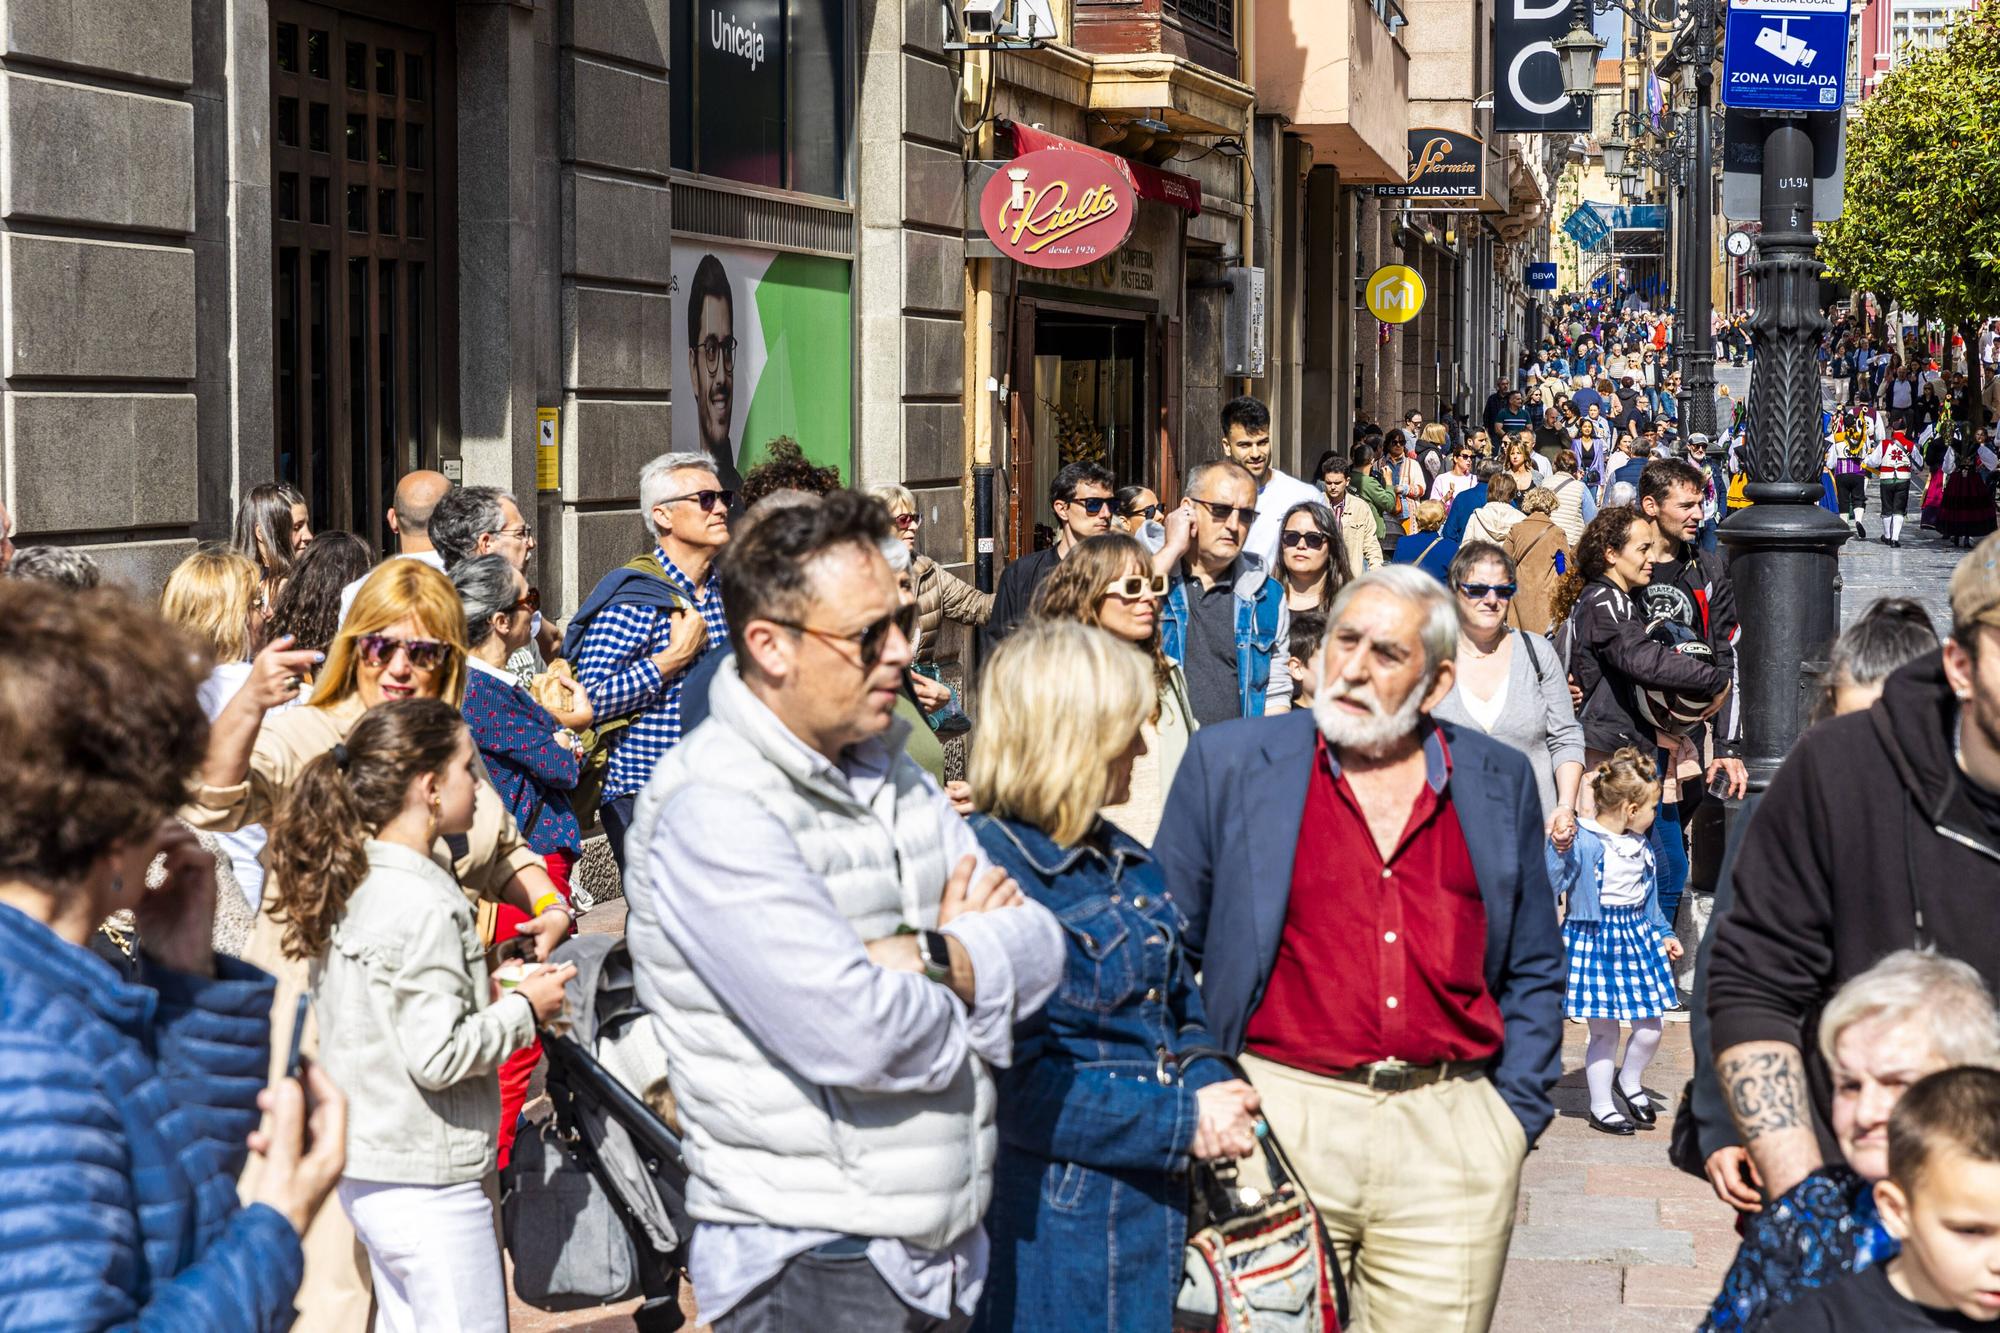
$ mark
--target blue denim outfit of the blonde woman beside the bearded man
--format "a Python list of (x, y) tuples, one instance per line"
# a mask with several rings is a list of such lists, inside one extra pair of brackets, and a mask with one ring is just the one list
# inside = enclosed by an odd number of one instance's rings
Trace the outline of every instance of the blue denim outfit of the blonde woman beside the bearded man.
[(1016, 1025), (998, 1075), (992, 1269), (974, 1329), (1160, 1333), (1188, 1237), (1194, 1093), (1232, 1077), (1214, 1059), (1182, 1067), (1214, 1047), (1186, 921), (1146, 849), (1108, 825), (1084, 847), (990, 815), (972, 831), (1068, 947), (1062, 985)]

